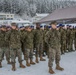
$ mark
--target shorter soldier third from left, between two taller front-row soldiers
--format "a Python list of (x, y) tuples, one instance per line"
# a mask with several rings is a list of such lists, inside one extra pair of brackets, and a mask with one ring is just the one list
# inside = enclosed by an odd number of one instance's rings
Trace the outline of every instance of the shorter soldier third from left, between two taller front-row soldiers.
[(25, 31), (26, 32), (24, 34), (24, 46), (25, 46), (24, 57), (26, 60), (26, 65), (29, 67), (31, 66), (31, 64), (35, 65), (35, 63), (33, 62), (33, 33), (29, 25), (25, 27)]

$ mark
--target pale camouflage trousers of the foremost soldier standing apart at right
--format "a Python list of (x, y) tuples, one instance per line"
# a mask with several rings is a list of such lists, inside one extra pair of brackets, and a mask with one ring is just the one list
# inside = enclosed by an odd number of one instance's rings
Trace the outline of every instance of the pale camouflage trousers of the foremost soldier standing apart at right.
[(57, 47), (55, 49), (51, 47), (49, 48), (49, 62), (48, 62), (49, 68), (53, 67), (54, 59), (55, 59), (55, 63), (59, 64), (60, 56), (61, 56), (60, 47)]

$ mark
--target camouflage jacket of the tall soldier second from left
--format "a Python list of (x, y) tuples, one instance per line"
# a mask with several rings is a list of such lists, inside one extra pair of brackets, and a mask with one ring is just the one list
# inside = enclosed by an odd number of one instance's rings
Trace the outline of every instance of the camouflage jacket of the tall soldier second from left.
[(9, 33), (10, 48), (20, 49), (21, 48), (21, 34), (18, 30), (11, 30)]

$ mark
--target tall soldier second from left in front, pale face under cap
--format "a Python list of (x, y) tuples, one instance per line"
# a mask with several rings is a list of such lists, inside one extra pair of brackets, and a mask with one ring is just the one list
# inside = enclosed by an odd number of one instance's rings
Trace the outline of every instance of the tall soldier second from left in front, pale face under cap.
[(20, 68), (25, 68), (22, 64), (22, 51), (21, 51), (21, 38), (20, 32), (17, 30), (16, 23), (11, 24), (11, 31), (9, 33), (9, 40), (10, 40), (10, 55), (11, 55), (11, 62), (12, 62), (12, 70), (15, 71), (15, 59), (16, 55), (18, 56), (18, 61), (20, 64)]

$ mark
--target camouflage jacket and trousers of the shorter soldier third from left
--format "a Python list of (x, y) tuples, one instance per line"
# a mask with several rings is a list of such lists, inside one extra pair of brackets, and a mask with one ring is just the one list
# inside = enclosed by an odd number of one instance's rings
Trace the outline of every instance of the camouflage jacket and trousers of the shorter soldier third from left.
[(32, 32), (25, 32), (24, 35), (24, 46), (25, 46), (25, 55), (26, 59), (30, 58), (31, 60), (33, 59), (33, 34)]

